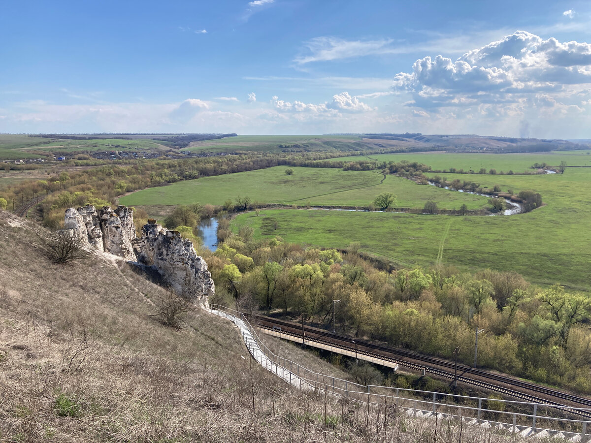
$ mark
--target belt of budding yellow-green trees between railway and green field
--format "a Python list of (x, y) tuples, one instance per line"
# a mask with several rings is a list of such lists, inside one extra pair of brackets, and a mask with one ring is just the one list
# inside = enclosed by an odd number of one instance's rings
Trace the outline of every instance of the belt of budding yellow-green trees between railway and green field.
[(200, 253), (216, 283), (212, 302), (251, 313), (280, 310), (329, 327), (338, 299), (340, 331), (446, 358), (461, 346), (459, 360), (466, 364), (472, 364), (478, 327), (484, 330), (479, 366), (591, 392), (591, 301), (584, 295), (559, 285), (535, 288), (515, 272), (384, 271), (363, 259), (359, 247), (254, 240), (244, 226), (226, 234), (215, 253)]

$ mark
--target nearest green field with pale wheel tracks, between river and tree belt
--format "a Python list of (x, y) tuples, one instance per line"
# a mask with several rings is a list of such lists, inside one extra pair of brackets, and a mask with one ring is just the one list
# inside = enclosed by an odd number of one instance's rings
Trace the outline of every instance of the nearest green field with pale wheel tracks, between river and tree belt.
[[(448, 174), (448, 180), (465, 177)], [(361, 249), (400, 266), (428, 268), (439, 261), (465, 271), (517, 271), (532, 282), (560, 282), (588, 290), (591, 282), (591, 169), (566, 174), (493, 177), (483, 184), (503, 190), (534, 189), (546, 206), (515, 216), (442, 216), (339, 211), (265, 210), (236, 217), (233, 229), (289, 242)], [(454, 193), (454, 191), (446, 191)], [(313, 229), (310, 227), (313, 226)]]

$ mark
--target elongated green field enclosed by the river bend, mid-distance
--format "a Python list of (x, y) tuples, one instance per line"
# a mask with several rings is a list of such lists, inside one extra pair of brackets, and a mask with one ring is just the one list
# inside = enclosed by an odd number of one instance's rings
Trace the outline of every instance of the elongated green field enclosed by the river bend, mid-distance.
[(203, 177), (165, 187), (148, 188), (121, 197), (119, 201), (127, 206), (196, 202), (223, 204), (228, 199), (248, 196), (252, 203), (261, 204), (365, 207), (379, 193), (391, 192), (398, 196), (397, 207), (422, 208), (427, 200), (435, 201), (442, 209), (458, 209), (464, 203), (469, 209), (478, 209), (487, 204), (485, 197), (450, 193), (428, 185), (417, 185), (394, 175), (384, 177), (375, 171), (341, 171), (331, 168), (293, 170), (293, 175), (286, 175), (285, 167), (273, 167)]

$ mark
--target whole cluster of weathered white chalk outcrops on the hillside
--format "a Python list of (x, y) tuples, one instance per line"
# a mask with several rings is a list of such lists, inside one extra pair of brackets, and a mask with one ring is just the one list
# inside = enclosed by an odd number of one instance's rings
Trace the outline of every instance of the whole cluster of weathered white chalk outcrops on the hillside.
[(125, 206), (115, 210), (103, 206), (98, 211), (92, 205), (69, 208), (64, 222), (66, 229), (84, 236), (89, 246), (150, 267), (178, 295), (209, 307), (207, 299), (215, 286), (207, 263), (178, 232), (148, 220), (138, 238), (133, 210)]

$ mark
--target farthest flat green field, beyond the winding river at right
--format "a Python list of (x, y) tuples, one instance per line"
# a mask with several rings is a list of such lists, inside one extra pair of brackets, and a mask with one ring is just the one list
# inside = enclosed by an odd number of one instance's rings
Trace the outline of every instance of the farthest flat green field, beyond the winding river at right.
[[(374, 159), (376, 161), (400, 162), (408, 160), (417, 161), (429, 165), (433, 170), (456, 170), (463, 169), (466, 172), (473, 170), (478, 172), (485, 168), (488, 172), (495, 169), (497, 172), (525, 172), (532, 171), (530, 167), (534, 163), (546, 163), (551, 166), (558, 166), (561, 161), (566, 161), (569, 166), (591, 166), (591, 151), (560, 151), (560, 152), (535, 152), (532, 154), (472, 154), (465, 152), (417, 152), (402, 154), (378, 154), (367, 156), (352, 155), (349, 157), (333, 158), (331, 161), (358, 161), (361, 159)], [(463, 180), (470, 180), (462, 175)]]

